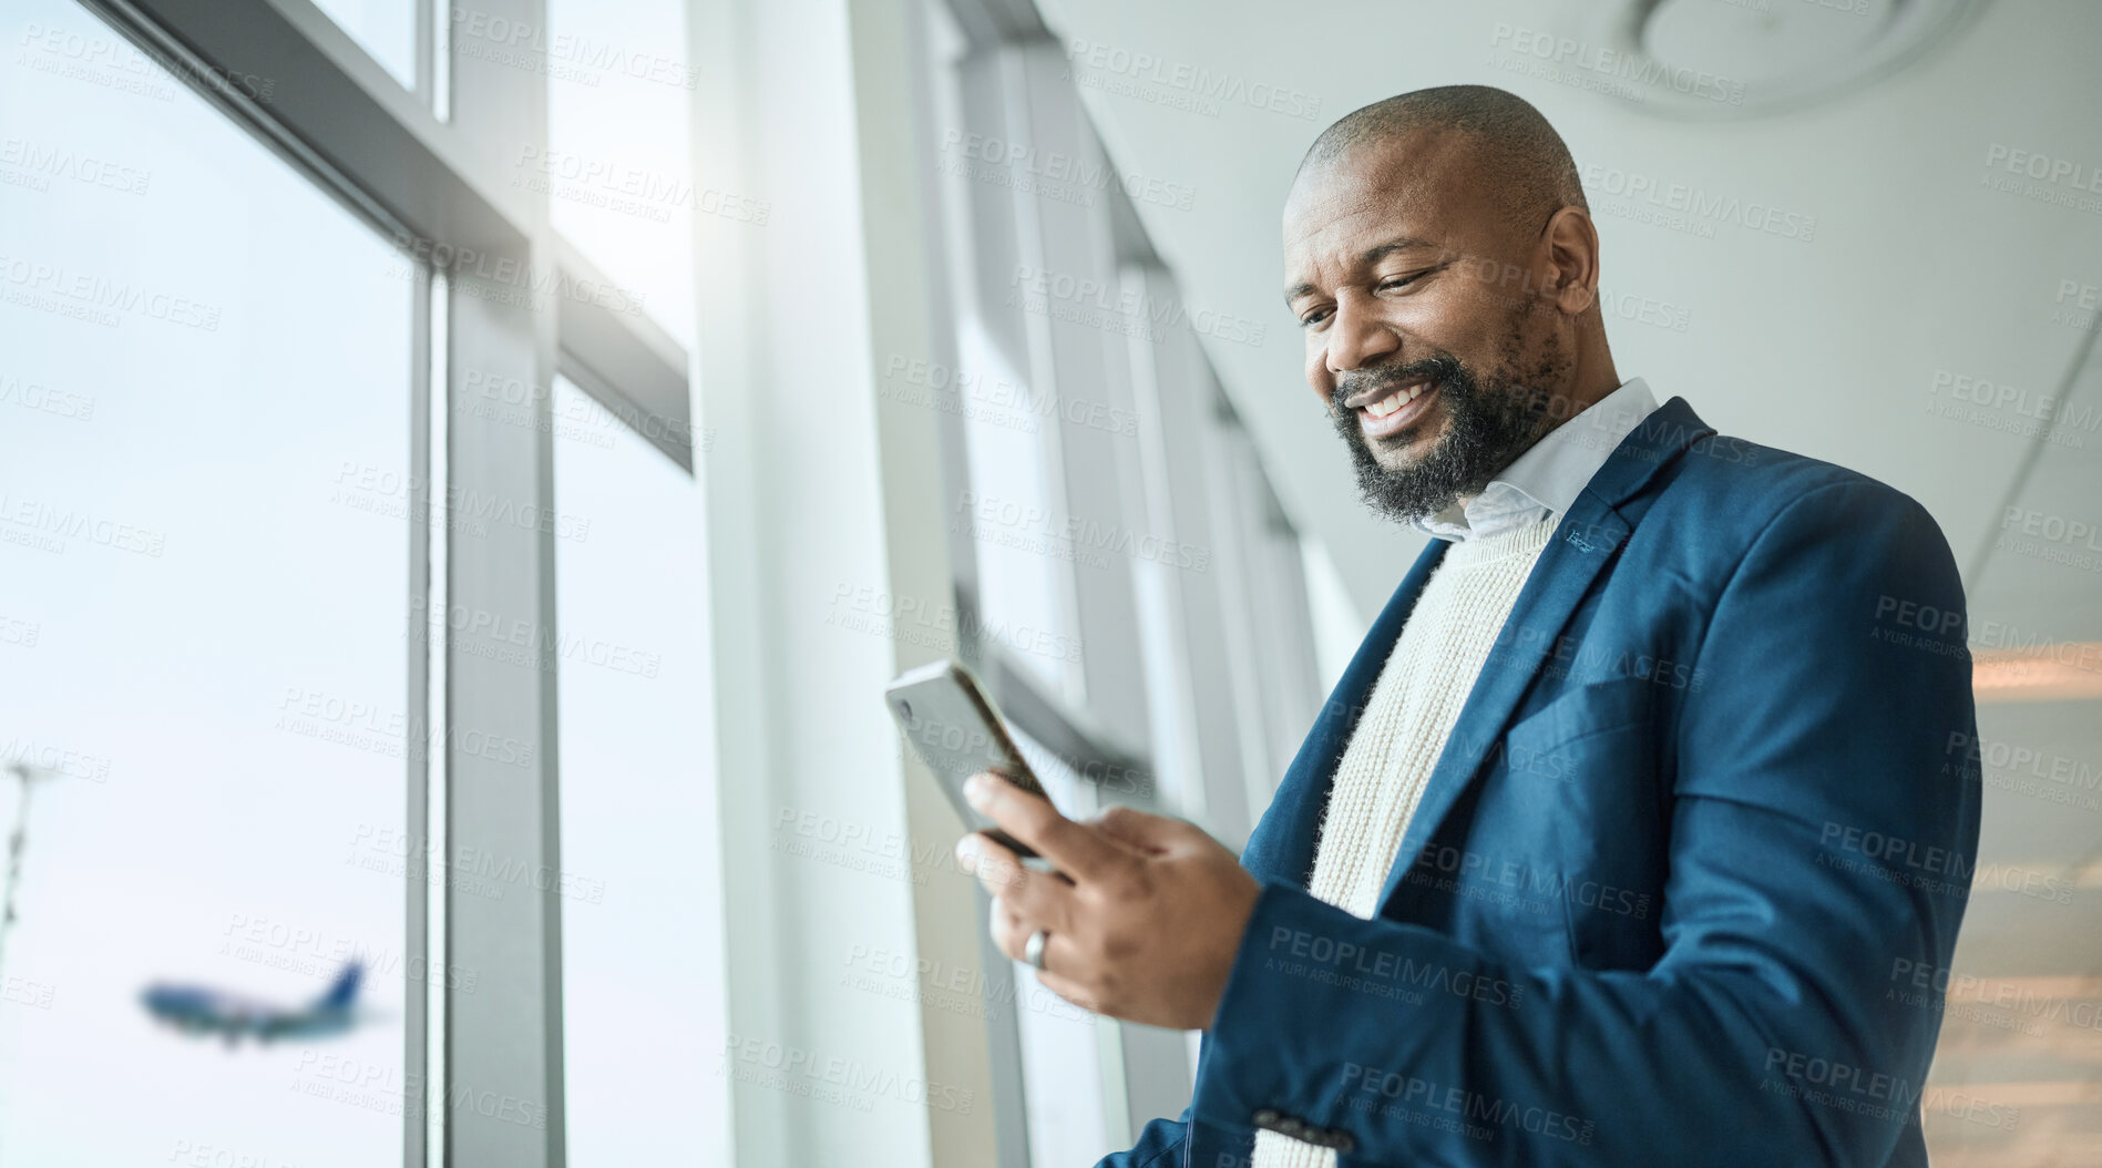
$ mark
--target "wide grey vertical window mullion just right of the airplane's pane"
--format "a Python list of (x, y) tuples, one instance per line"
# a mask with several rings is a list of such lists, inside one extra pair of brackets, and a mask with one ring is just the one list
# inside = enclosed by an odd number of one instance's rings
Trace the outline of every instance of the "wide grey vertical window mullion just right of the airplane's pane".
[[(481, 11), (547, 27), (542, 0)], [(547, 80), (479, 57), (452, 61), (452, 126), (462, 139), (547, 143)], [(521, 193), (526, 197), (526, 193)], [(555, 538), (551, 393), (559, 258), (547, 195), (523, 214), (526, 296), (513, 281), (456, 271), (448, 319), (454, 389), (526, 384), (532, 424), (450, 410), (452, 527), (446, 668), (450, 676), (448, 861), (513, 878), (502, 897), (446, 882), (446, 1164), (559, 1168), (565, 1162), (561, 1067), (561, 872), (557, 826)], [(523, 300), (523, 303), (517, 303)], [(519, 637), (519, 630), (526, 637)], [(523, 655), (523, 662), (519, 660)], [(523, 874), (523, 876), (517, 876)], [(473, 983), (467, 975), (473, 973)]]

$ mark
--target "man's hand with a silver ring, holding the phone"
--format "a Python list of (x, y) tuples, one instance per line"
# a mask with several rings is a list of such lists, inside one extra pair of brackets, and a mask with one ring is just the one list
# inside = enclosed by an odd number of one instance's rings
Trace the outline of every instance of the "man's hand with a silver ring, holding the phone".
[(956, 844), (994, 895), (992, 941), (1011, 958), (1049, 929), (1038, 981), (1089, 1010), (1160, 1025), (1211, 1025), (1261, 884), (1234, 853), (1183, 823), (1112, 807), (1087, 823), (998, 775), (971, 775), (971, 807), (1036, 849), (1034, 872), (982, 834)]

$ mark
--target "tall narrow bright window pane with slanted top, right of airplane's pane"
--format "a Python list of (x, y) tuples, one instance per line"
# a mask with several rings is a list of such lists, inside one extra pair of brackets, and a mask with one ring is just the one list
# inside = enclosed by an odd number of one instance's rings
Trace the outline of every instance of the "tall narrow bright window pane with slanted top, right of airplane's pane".
[(570, 1164), (727, 1145), (700, 485), (557, 378), (561, 981)]

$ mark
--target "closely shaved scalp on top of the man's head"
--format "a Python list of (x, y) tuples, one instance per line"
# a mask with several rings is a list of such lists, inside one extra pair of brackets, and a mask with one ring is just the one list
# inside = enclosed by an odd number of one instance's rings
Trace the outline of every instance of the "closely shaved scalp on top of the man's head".
[(1404, 139), (1459, 147), (1438, 151), (1467, 170), (1455, 179), (1501, 195), (1505, 223), (1526, 235), (1566, 206), (1589, 210), (1562, 134), (1532, 103), (1495, 86), (1419, 88), (1345, 113), (1314, 139), (1299, 176)]

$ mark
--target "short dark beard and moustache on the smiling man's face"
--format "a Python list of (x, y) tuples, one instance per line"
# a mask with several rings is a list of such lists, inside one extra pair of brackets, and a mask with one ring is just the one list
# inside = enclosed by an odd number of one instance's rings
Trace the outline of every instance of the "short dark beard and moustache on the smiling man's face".
[[(1516, 357), (1516, 347), (1518, 338), (1511, 336), (1505, 342), (1505, 355)], [(1543, 387), (1560, 384), (1564, 372), (1566, 361), (1560, 349), (1549, 342), (1532, 376), (1474, 372), (1459, 357), (1438, 353), (1392, 370), (1371, 370), (1358, 378), (1343, 378), (1331, 399), (1335, 405), (1331, 414), (1337, 433), (1343, 435), (1343, 445), (1349, 447), (1364, 502), (1389, 519), (1410, 521), (1438, 515), (1459, 502), (1463, 494), (1482, 494), (1497, 473), (1553, 429), (1549, 416), (1553, 391)], [(1431, 378), (1425, 393), (1438, 389), (1448, 426), (1429, 454), (1396, 471), (1373, 458), (1373, 439), (1358, 429), (1358, 412), (1343, 410), (1343, 399), (1364, 389), (1366, 382), (1383, 387), (1413, 378)], [(1394, 437), (1410, 441), (1417, 431), (1402, 431)]]

